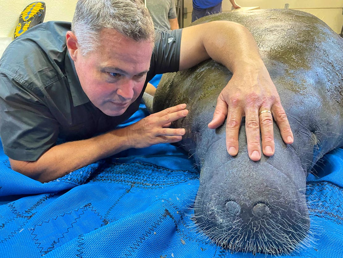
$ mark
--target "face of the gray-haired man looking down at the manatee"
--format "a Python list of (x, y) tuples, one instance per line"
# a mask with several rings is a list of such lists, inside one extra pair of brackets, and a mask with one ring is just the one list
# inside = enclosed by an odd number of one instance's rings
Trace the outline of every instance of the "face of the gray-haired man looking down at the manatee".
[(114, 29), (103, 29), (99, 43), (98, 49), (86, 56), (76, 52), (76, 73), (97, 108), (108, 116), (120, 116), (142, 92), (153, 42), (137, 42)]

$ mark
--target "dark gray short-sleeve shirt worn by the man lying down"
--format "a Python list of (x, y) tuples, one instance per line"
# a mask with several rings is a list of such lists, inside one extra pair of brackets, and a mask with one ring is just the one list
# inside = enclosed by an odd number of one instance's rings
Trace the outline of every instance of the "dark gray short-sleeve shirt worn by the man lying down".
[(80, 85), (66, 46), (69, 22), (45, 22), (17, 37), (0, 60), (0, 138), (8, 157), (35, 161), (56, 144), (115, 129), (137, 111), (154, 75), (179, 69), (182, 30), (156, 31), (141, 95), (121, 116), (105, 115)]

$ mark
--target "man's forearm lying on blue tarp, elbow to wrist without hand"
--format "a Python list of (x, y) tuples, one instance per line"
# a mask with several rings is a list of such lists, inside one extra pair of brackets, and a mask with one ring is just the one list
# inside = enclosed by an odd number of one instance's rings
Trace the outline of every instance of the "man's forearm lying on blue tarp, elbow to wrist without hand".
[(49, 182), (131, 147), (123, 128), (90, 139), (56, 145), (37, 161), (10, 161), (13, 170), (40, 182)]

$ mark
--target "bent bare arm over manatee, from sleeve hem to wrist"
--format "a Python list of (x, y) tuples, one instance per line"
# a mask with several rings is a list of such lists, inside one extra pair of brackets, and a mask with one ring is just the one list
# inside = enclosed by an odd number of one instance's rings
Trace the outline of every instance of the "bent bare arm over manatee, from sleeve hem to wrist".
[[(194, 28), (192, 28), (194, 27)], [(246, 67), (261, 66), (262, 60), (251, 33), (242, 25), (229, 21), (214, 21), (184, 29), (182, 33), (180, 69), (192, 67), (211, 57), (231, 72)], [(192, 44), (192, 37), (200, 37)]]

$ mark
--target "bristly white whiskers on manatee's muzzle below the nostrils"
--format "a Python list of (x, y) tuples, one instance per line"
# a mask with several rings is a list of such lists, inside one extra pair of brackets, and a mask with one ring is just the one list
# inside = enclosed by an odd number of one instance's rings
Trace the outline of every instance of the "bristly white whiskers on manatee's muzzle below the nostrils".
[[(304, 190), (305, 188), (295, 191), (302, 193)], [(294, 207), (306, 206), (297, 197), (288, 199), (287, 202), (295, 204)], [(264, 204), (261, 205), (264, 207)], [(309, 245), (309, 222), (306, 215), (302, 215), (297, 209), (289, 211), (280, 206), (275, 210), (272, 204), (265, 205), (271, 207), (270, 211), (267, 209), (268, 215), (256, 215), (257, 217), (250, 217), (245, 221), (239, 213), (224, 211), (215, 202), (205, 200), (198, 194), (192, 219), (213, 243), (234, 252), (281, 255)]]

